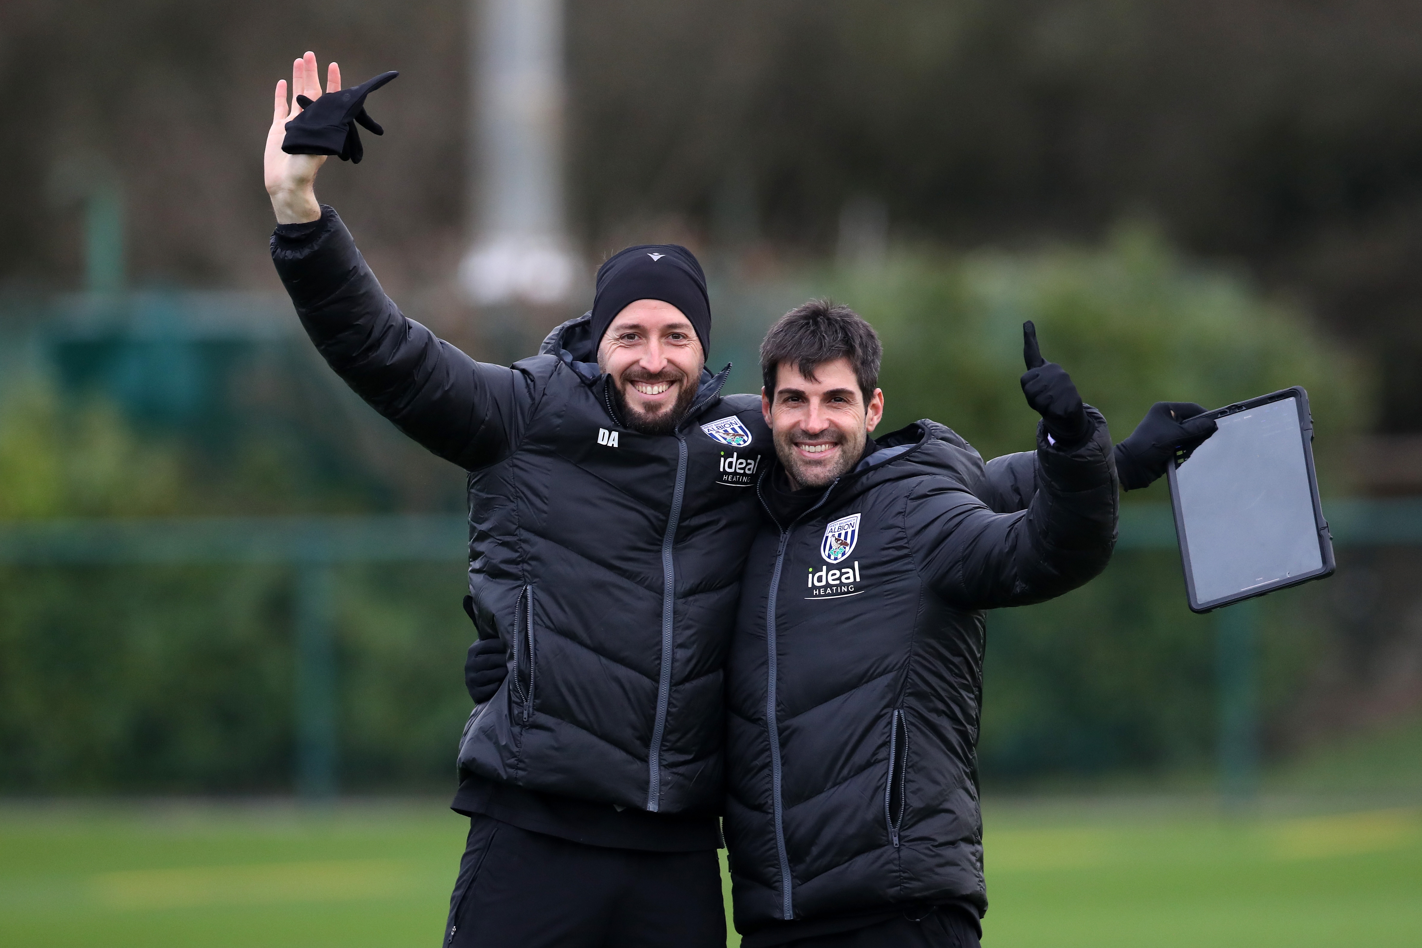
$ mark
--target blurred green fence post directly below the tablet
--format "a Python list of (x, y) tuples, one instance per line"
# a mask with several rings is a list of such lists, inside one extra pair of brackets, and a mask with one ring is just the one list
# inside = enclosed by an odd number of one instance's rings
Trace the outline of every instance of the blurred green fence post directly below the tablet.
[(1216, 614), (1220, 701), (1220, 795), (1246, 804), (1258, 790), (1258, 600)]

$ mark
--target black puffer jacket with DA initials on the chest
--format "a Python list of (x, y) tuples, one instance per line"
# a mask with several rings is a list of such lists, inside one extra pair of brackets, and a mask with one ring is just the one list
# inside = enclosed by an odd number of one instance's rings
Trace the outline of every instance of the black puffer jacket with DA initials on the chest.
[(273, 239), (297, 314), (377, 411), (469, 472), (475, 621), (509, 677), (459, 766), (574, 800), (714, 814), (722, 668), (771, 438), (759, 399), (704, 374), (675, 435), (616, 418), (587, 317), (512, 368), (401, 316), (330, 208)]

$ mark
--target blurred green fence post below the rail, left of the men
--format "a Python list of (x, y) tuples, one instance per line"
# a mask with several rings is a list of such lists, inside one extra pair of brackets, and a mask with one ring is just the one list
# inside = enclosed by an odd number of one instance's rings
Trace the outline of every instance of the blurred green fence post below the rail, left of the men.
[(296, 573), (296, 790), (307, 800), (336, 795), (336, 658), (331, 566)]

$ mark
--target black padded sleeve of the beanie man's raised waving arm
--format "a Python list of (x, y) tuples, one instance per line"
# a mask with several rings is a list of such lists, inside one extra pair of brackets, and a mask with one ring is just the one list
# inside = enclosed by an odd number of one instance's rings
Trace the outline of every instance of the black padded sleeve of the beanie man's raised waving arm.
[(371, 408), (474, 470), (512, 453), (533, 401), (526, 374), (476, 362), (405, 318), (334, 209), (277, 227), (272, 260), (316, 350)]

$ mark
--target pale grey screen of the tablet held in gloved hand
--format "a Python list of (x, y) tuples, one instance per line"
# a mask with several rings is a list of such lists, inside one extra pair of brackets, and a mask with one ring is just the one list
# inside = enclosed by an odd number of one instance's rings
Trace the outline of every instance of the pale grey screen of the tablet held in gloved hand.
[(1220, 418), (1176, 492), (1200, 603), (1322, 569), (1297, 398)]

